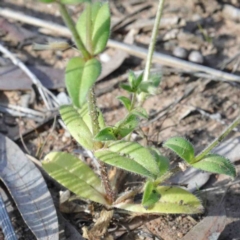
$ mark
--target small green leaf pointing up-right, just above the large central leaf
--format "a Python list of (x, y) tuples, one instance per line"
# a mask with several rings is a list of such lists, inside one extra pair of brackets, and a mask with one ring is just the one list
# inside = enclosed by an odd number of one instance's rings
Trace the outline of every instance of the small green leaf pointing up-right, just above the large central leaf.
[(116, 123), (117, 132), (119, 137), (125, 137), (132, 132), (139, 124), (140, 119), (136, 114), (129, 113), (125, 119)]

